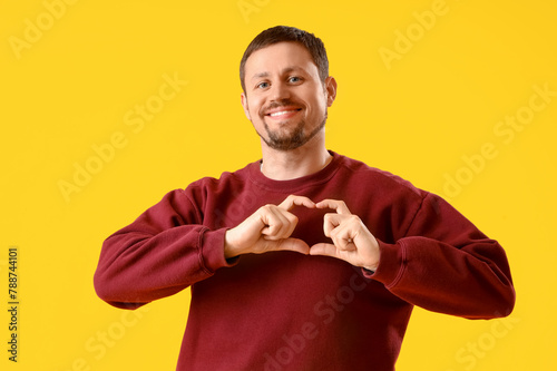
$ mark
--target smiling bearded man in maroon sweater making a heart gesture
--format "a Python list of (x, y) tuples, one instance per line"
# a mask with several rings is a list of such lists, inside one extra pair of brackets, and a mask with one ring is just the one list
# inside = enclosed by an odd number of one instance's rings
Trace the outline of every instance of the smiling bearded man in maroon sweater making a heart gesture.
[(192, 287), (178, 370), (394, 370), (413, 305), (508, 315), (504, 250), (440, 197), (325, 149), (320, 39), (275, 27), (241, 62), (262, 160), (168, 193), (108, 237), (111, 305)]

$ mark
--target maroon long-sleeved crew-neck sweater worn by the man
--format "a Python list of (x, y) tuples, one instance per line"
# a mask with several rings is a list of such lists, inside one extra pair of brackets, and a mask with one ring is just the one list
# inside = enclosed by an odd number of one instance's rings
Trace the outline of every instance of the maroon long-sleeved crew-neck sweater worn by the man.
[[(109, 236), (98, 295), (136, 309), (192, 287), (178, 370), (393, 370), (413, 305), (468, 319), (508, 315), (506, 254), (440, 197), (333, 153), (319, 173), (273, 180), (260, 162), (168, 193)], [(224, 258), (224, 234), (287, 195), (342, 199), (378, 238), (375, 273), (325, 256)], [(297, 207), (310, 246), (326, 211)]]

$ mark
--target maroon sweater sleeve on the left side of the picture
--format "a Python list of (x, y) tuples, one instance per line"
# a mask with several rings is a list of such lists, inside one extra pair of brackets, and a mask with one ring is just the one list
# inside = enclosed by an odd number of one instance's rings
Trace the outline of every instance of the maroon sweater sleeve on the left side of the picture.
[(224, 257), (226, 228), (208, 230), (202, 215), (187, 189), (177, 189), (110, 235), (94, 277), (99, 297), (136, 309), (229, 266)]

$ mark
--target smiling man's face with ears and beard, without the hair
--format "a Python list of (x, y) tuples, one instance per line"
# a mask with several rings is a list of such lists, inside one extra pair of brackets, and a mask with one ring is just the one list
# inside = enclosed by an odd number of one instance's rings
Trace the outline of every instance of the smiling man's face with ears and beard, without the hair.
[(278, 42), (247, 59), (242, 106), (268, 147), (290, 150), (322, 133), (335, 91), (334, 79), (321, 81), (302, 45)]

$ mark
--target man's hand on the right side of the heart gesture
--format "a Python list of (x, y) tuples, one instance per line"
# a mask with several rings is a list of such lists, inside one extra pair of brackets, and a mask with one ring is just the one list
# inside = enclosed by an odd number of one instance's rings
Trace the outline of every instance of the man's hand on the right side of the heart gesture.
[(336, 213), (325, 214), (323, 230), (333, 244), (320, 243), (311, 247), (311, 255), (333, 256), (355, 266), (375, 271), (379, 265), (379, 243), (358, 215), (352, 215), (346, 204), (336, 199), (324, 199), (317, 208), (331, 208)]

